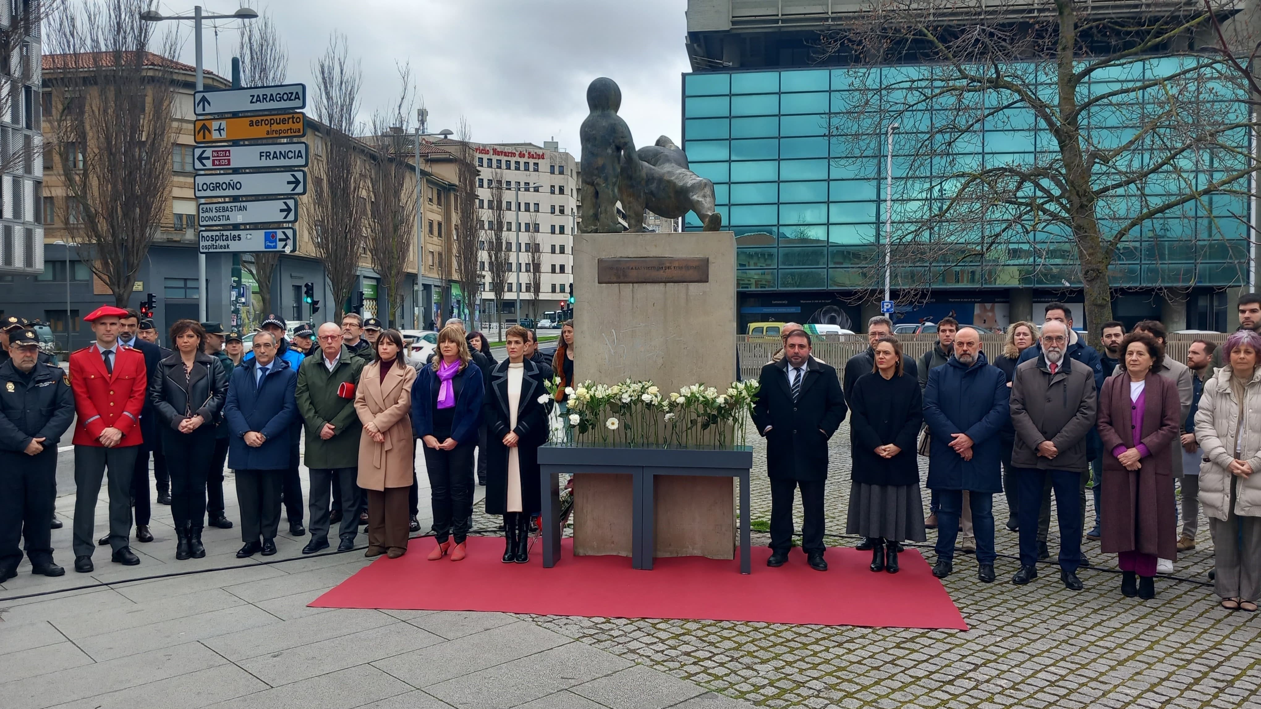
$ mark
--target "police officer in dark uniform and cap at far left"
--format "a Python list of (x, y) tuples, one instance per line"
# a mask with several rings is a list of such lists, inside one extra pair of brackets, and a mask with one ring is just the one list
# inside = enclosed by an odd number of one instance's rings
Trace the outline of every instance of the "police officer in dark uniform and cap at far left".
[(0, 583), (18, 575), (19, 539), (32, 573), (59, 577), (53, 563), (57, 443), (74, 420), (74, 396), (61, 367), (39, 362), (34, 331), (9, 334), (0, 365)]

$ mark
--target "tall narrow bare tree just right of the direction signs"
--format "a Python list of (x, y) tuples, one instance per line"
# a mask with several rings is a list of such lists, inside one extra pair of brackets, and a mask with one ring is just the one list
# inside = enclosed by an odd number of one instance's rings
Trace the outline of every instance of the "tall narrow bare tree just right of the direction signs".
[(315, 120), (324, 124), (325, 132), (323, 159), (311, 165), (314, 245), (340, 318), (367, 240), (364, 148), (354, 138), (363, 72), (358, 62), (351, 61), (346, 37), (334, 33), (324, 56), (315, 61), (313, 73)]

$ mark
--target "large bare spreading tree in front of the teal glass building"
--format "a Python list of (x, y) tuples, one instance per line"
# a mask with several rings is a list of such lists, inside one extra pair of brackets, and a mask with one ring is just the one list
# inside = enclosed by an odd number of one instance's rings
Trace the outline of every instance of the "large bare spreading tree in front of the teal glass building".
[[(834, 165), (856, 178), (884, 177), (899, 124), (890, 250), (904, 300), (938, 284), (1079, 281), (1097, 325), (1112, 318), (1113, 281), (1185, 286), (1206, 254), (1218, 270), (1247, 264), (1248, 87), (1221, 53), (1195, 49), (1213, 15), (1228, 16), (1223, 3), (1119, 18), (1000, 0), (967, 24), (956, 8), (874, 0), (818, 47), (859, 64), (915, 59), (849, 72), (847, 105), (827, 119)], [(854, 243), (847, 285), (883, 285), (884, 251)]]

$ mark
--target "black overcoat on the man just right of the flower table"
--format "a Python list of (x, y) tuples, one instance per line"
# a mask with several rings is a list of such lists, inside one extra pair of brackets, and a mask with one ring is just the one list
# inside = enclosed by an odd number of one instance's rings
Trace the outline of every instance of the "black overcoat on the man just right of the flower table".
[[(767, 439), (767, 474), (796, 481), (827, 479), (827, 440), (847, 407), (836, 368), (811, 357), (801, 394), (792, 400), (788, 358), (762, 367), (753, 423)], [(767, 430), (770, 426), (770, 430)]]

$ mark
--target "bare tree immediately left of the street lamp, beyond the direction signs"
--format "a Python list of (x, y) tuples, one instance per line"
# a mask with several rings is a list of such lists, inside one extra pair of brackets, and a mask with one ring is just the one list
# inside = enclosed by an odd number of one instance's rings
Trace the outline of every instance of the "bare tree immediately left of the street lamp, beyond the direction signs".
[[(416, 231), (416, 169), (411, 165), (415, 143), (409, 136), (409, 116), (415, 112), (411, 66), (398, 67), (402, 88), (390, 112), (372, 116), (376, 155), (368, 168), (372, 201), (368, 203), (368, 254), (386, 286), (386, 324), (401, 322), (407, 257)], [(419, 278), (417, 264), (417, 278)]]

